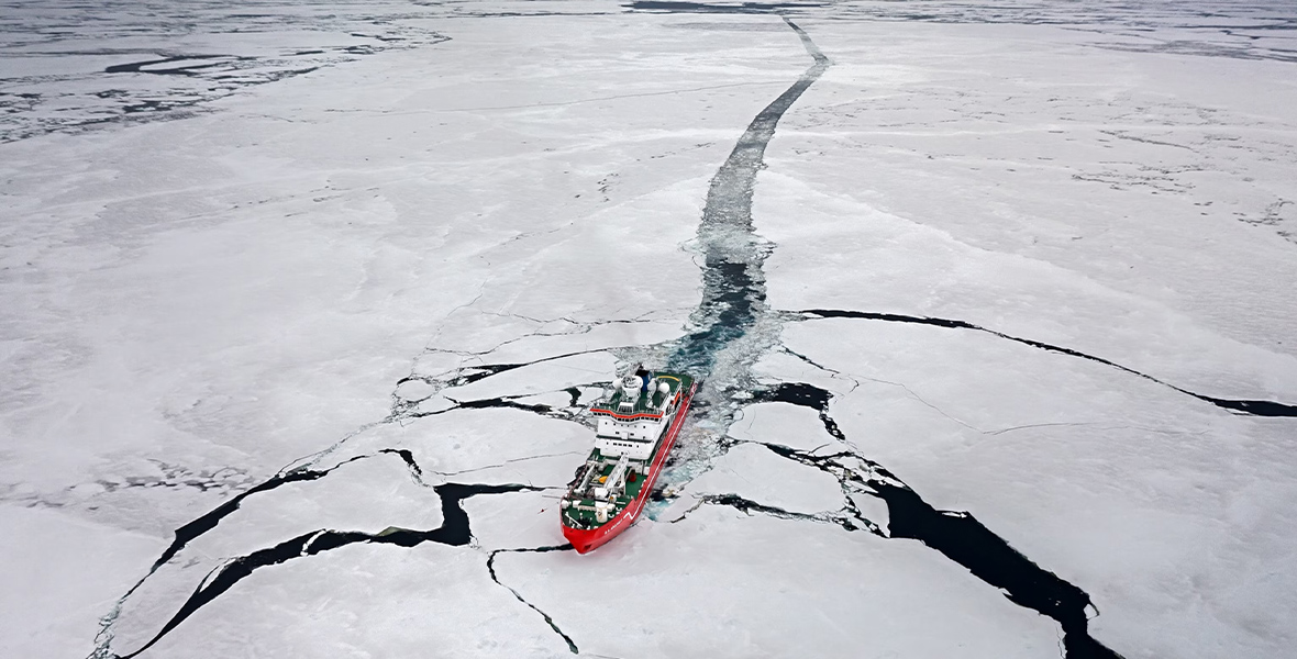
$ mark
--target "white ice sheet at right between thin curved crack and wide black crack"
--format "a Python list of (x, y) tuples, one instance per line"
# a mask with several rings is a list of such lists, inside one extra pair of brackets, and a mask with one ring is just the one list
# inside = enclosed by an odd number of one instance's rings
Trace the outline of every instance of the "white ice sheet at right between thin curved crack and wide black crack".
[[(1099, 638), (1136, 656), (1283, 654), (1292, 603), (1275, 593), (1297, 586), (1276, 531), (1294, 521), (1291, 420), (1232, 416), (986, 335), (851, 323), (785, 336), (864, 381), (831, 406), (848, 440), (934, 506), (973, 512), (1086, 584)], [(1149, 633), (1149, 616), (1167, 632)]]

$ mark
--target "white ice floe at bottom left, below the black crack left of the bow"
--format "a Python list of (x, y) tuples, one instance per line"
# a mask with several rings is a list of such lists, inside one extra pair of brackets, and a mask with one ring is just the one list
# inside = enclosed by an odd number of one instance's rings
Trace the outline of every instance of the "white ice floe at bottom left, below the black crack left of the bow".
[[(258, 569), (148, 654), (549, 658), (567, 647), (486, 572), (485, 555), (351, 545)], [(148, 654), (143, 656), (148, 656)]]

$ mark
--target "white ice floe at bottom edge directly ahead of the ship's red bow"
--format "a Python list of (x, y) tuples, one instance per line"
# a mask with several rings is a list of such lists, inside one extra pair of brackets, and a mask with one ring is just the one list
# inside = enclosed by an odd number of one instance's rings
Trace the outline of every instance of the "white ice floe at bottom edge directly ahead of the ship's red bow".
[[(1053, 656), (1057, 637), (917, 544), (704, 506), (585, 557), (501, 554), (501, 581), (607, 656)], [(591, 610), (591, 584), (610, 593)]]

